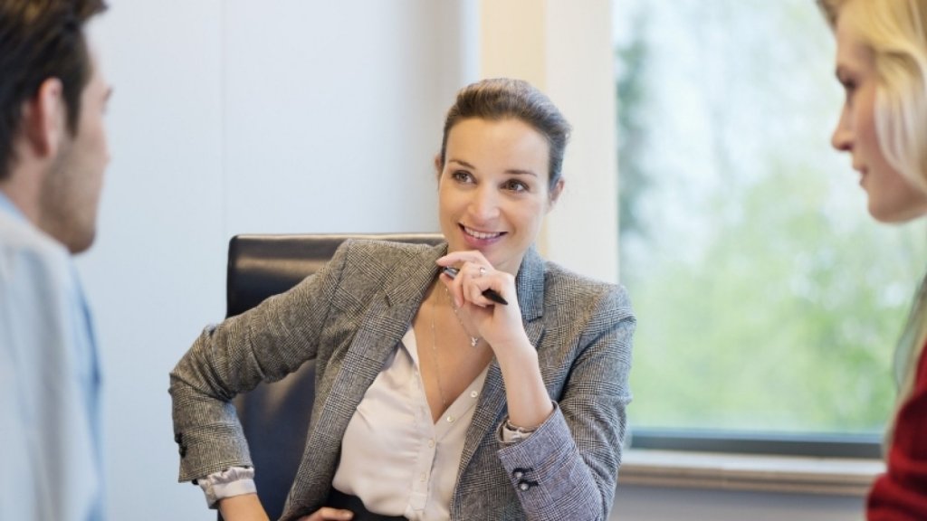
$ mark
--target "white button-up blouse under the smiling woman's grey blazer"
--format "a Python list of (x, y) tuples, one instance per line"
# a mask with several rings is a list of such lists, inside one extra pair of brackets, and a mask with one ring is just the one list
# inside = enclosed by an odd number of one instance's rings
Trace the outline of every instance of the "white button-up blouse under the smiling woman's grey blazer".
[(334, 487), (377, 514), (450, 518), (467, 427), (488, 370), (433, 423), (409, 328), (348, 424)]

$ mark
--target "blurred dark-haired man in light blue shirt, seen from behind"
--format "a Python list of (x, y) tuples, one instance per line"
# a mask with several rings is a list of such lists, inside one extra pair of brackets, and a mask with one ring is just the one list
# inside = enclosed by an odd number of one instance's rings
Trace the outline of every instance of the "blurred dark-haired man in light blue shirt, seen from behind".
[(108, 84), (102, 0), (0, 0), (0, 519), (105, 518), (100, 375), (71, 255), (90, 248)]

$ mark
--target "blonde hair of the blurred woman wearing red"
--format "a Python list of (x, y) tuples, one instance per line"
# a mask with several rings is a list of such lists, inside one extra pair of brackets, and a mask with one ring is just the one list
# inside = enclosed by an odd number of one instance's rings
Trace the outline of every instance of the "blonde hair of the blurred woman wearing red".
[[(818, 0), (818, 5), (832, 28), (838, 20), (849, 24), (872, 51), (879, 146), (892, 168), (927, 193), (927, 0)], [(914, 388), (925, 342), (927, 279), (895, 350), (895, 413)], [(889, 426), (886, 441), (893, 431)]]

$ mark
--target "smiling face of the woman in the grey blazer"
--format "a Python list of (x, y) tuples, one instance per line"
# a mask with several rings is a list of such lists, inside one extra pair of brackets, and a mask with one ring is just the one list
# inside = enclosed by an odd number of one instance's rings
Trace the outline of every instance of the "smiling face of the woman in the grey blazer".
[(441, 232), (449, 251), (478, 249), (517, 273), (563, 181), (548, 189), (550, 147), (526, 123), (463, 120), (448, 133), (438, 165)]

